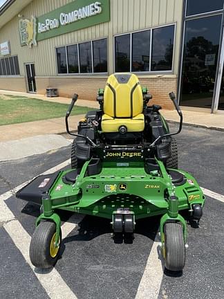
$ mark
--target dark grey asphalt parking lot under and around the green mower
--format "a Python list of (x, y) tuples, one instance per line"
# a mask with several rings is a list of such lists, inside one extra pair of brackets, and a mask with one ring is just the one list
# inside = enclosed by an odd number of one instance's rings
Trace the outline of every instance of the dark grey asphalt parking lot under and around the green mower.
[[(183, 127), (176, 138), (179, 167), (192, 173), (201, 187), (224, 195), (224, 132)], [(69, 156), (70, 147), (64, 147), (56, 152), (1, 162), (0, 193), (5, 194)], [(62, 298), (62, 294), (64, 298), (79, 299), (224, 298), (223, 201), (206, 199), (200, 226), (187, 225), (189, 248), (185, 269), (171, 275), (156, 268), (161, 264), (159, 251), (155, 251), (158, 243), (154, 242), (160, 217), (138, 221), (133, 242), (115, 244), (110, 221), (76, 215), (78, 226), (73, 226), (74, 218), (69, 212), (60, 214), (62, 223), (68, 220), (66, 224), (71, 226), (66, 228), (63, 254), (55, 272), (39, 273), (28, 264), (25, 246), (35, 230), (39, 207), (8, 196), (4, 202), (12, 219), (0, 219), (0, 298)], [(48, 284), (55, 286), (56, 295)]]

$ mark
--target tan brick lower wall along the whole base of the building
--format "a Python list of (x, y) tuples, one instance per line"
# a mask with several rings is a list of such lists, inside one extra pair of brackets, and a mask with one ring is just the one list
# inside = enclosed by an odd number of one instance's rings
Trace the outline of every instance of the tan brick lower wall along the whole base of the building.
[[(153, 99), (150, 105), (158, 104), (164, 109), (174, 109), (168, 93), (176, 93), (176, 76), (140, 77), (142, 87), (147, 87)], [(37, 93), (45, 94), (47, 87), (55, 87), (59, 96), (71, 98), (78, 93), (80, 99), (95, 100), (97, 90), (104, 88), (106, 78), (36, 77)], [(26, 92), (26, 78), (0, 78), (0, 89)]]

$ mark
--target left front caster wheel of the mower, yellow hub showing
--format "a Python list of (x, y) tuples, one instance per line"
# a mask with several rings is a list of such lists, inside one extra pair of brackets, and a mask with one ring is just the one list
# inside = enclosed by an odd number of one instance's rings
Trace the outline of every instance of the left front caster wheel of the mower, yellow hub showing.
[(30, 260), (34, 266), (38, 268), (50, 268), (57, 262), (62, 233), (60, 233), (59, 244), (55, 244), (55, 239), (55, 223), (41, 221), (35, 229), (30, 242)]

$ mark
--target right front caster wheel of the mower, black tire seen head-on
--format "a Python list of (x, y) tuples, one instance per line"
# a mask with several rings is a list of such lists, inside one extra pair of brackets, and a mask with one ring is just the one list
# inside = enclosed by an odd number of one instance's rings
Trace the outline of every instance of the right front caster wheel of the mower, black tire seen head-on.
[(166, 223), (164, 226), (163, 257), (169, 271), (182, 271), (185, 266), (185, 241), (183, 228), (178, 223)]

